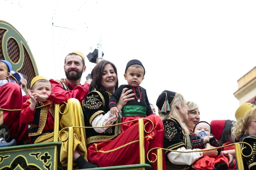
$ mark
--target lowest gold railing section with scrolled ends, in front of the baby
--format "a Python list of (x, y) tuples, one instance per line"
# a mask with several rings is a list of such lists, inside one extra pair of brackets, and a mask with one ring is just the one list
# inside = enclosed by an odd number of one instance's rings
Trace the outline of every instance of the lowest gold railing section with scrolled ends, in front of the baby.
[[(251, 150), (252, 150), (252, 147), (251, 145), (249, 145), (249, 143), (246, 143), (246, 142), (237, 142), (237, 143), (232, 143), (230, 145), (226, 145), (226, 146), (221, 146), (221, 147), (217, 147), (217, 148), (211, 148), (211, 149), (202, 149), (202, 150), (195, 150), (195, 151), (176, 151), (176, 150), (170, 150), (170, 149), (164, 149), (164, 148), (152, 148), (151, 150), (148, 151), (147, 153), (147, 159), (148, 161), (150, 161), (151, 163), (154, 163), (155, 161), (157, 161), (157, 169), (158, 170), (162, 170), (163, 169), (163, 150), (165, 151), (171, 151), (171, 152), (179, 152), (179, 153), (192, 153), (192, 152), (204, 152), (204, 151), (211, 151), (211, 150), (216, 150), (216, 149), (221, 149), (221, 148), (225, 148), (225, 147), (228, 147), (228, 146), (231, 146), (231, 145), (234, 145), (235, 146), (235, 151), (236, 151), (236, 163), (237, 163), (237, 167), (238, 167), (238, 170), (244, 170), (244, 166), (243, 166), (243, 157), (245, 158), (248, 158), (252, 155), (253, 152), (251, 152), (250, 155), (244, 155), (242, 153), (242, 151), (246, 148), (246, 147), (243, 147), (241, 149), (240, 147), (240, 144), (245, 144), (245, 145), (248, 145)], [(157, 155), (152, 153), (153, 155), (155, 155), (156, 159), (154, 161), (152, 160), (149, 160), (148, 158), (148, 155), (153, 151), (153, 150), (157, 150)], [(252, 150), (253, 151), (253, 150)]]

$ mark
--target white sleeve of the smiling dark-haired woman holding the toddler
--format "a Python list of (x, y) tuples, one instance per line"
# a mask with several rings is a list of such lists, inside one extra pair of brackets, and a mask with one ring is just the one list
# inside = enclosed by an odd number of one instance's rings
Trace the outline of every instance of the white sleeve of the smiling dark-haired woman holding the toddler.
[[(120, 114), (119, 114), (119, 117), (121, 119)], [(113, 125), (117, 118), (118, 118), (118, 116), (112, 115), (110, 113), (110, 111), (108, 111), (105, 114), (100, 113), (100, 114), (98, 114), (97, 116), (94, 117), (94, 119), (92, 120), (91, 125), (92, 125), (92, 127)], [(93, 129), (98, 133), (103, 133), (108, 128), (93, 128)]]

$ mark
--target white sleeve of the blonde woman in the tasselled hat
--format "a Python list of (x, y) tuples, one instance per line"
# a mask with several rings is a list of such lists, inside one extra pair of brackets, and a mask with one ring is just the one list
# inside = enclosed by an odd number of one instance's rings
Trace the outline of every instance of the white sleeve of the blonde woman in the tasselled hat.
[[(193, 149), (200, 150), (200, 149)], [(191, 149), (186, 149), (181, 147), (176, 149), (176, 151), (192, 151)], [(192, 165), (195, 161), (204, 155), (203, 152), (192, 152), (192, 153), (179, 153), (179, 152), (169, 152), (167, 158), (170, 162), (175, 165)]]

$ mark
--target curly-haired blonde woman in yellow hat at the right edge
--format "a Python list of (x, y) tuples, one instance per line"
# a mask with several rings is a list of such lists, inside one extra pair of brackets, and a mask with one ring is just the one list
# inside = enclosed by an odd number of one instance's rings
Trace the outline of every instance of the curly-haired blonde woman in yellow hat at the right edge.
[[(232, 135), (240, 142), (247, 142), (253, 148), (253, 154), (249, 158), (243, 157), (244, 169), (256, 169), (256, 106), (251, 103), (242, 104), (236, 111), (237, 122), (232, 128)], [(246, 145), (245, 145), (246, 146)], [(241, 148), (244, 147), (243, 144)], [(247, 146), (243, 150), (244, 155), (250, 155), (251, 149)]]

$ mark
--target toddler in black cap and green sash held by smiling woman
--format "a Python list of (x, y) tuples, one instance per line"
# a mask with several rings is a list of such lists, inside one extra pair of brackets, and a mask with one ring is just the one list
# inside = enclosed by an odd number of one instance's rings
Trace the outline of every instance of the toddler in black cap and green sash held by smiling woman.
[[(127, 116), (146, 117), (150, 114), (153, 114), (147, 98), (146, 90), (140, 86), (142, 80), (144, 79), (144, 75), (145, 69), (139, 60), (129, 61), (126, 65), (124, 73), (124, 79), (127, 80), (128, 85), (119, 86), (115, 93), (110, 97), (110, 111), (111, 113), (118, 114), (118, 108), (116, 103), (119, 101), (122, 90), (124, 88), (128, 88), (128, 90), (132, 89), (133, 91), (130, 94), (135, 94), (136, 99), (128, 101), (122, 109), (122, 122), (128, 121), (127, 119), (125, 120), (125, 117)], [(127, 98), (129, 96), (131, 95), (128, 94)], [(124, 126), (122, 125), (122, 130), (124, 130)]]

